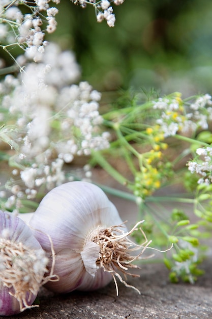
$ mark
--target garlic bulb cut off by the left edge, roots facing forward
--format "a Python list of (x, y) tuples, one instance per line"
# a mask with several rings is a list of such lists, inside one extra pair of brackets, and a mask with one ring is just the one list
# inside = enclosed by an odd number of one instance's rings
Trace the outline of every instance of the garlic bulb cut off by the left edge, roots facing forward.
[(47, 263), (31, 229), (13, 214), (0, 211), (0, 315), (35, 307)]

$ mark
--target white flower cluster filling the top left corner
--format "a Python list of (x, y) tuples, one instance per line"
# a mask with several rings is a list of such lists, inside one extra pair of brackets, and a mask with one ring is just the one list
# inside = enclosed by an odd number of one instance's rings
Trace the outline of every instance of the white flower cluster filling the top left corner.
[[(18, 45), (26, 55), (39, 61), (46, 41), (45, 32), (56, 30), (55, 15), (58, 10), (50, 7), (50, 0), (35, 0), (35, 5), (19, 1), (1, 1), (0, 4), (0, 40), (9, 52), (10, 47)], [(58, 4), (59, 0), (53, 0)], [(44, 24), (46, 24), (44, 26)]]

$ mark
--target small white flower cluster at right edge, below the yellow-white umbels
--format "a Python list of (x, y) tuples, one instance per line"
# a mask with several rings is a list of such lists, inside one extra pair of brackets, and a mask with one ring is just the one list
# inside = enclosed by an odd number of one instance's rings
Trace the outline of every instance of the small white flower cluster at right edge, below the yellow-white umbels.
[(193, 161), (189, 161), (188, 169), (192, 174), (201, 176), (198, 184), (209, 185), (212, 182), (212, 147), (197, 148), (196, 154), (198, 156)]

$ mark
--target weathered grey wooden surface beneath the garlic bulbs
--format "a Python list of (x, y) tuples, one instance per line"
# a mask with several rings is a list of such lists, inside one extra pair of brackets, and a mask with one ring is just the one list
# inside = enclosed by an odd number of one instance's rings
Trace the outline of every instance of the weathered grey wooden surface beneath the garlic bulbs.
[(119, 284), (116, 297), (114, 283), (93, 292), (74, 291), (53, 295), (46, 289), (39, 294), (40, 307), (10, 317), (24, 319), (210, 319), (212, 318), (211, 261), (203, 263), (205, 275), (195, 285), (168, 281), (162, 264), (145, 264), (140, 278), (130, 279), (140, 291)]

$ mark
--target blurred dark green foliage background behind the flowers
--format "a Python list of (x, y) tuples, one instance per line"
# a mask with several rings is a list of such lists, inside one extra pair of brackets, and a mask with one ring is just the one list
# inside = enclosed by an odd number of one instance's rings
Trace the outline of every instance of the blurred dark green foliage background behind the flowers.
[(114, 28), (92, 6), (62, 0), (48, 39), (73, 49), (82, 79), (100, 91), (133, 87), (184, 97), (212, 93), (212, 2), (125, 0)]

